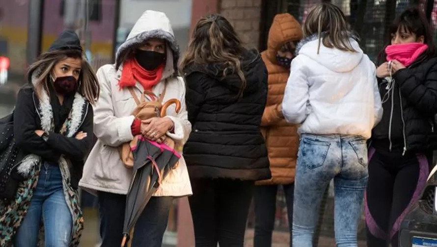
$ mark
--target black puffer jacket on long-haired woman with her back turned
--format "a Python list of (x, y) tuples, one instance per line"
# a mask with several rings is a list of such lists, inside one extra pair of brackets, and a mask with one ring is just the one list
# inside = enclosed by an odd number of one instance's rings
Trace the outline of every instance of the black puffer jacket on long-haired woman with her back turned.
[(237, 74), (219, 64), (184, 70), (192, 132), (184, 147), (191, 177), (261, 180), (271, 177), (259, 125), (267, 100), (267, 69), (256, 51), (242, 61), (247, 87), (237, 98)]

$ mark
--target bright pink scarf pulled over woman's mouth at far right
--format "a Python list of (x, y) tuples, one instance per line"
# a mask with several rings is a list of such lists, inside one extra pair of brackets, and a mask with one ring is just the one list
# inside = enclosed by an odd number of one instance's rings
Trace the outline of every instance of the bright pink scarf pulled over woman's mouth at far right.
[(389, 45), (385, 48), (385, 53), (387, 54), (387, 61), (396, 59), (404, 66), (409, 66), (426, 49), (428, 49), (427, 44), (406, 43), (399, 45)]

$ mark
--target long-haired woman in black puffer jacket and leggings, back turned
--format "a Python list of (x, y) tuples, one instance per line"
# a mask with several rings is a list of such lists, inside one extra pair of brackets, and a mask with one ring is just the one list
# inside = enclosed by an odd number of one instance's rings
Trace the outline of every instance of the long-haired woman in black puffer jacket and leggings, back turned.
[(243, 246), (254, 181), (271, 177), (259, 129), (266, 66), (215, 14), (196, 24), (180, 69), (193, 129), (184, 157), (196, 247)]

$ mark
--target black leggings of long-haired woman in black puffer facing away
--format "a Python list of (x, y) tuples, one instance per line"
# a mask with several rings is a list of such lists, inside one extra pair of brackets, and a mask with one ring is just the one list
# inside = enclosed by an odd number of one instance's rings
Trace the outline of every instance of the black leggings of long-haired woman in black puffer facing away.
[(255, 182), (191, 179), (189, 197), (196, 247), (243, 247)]

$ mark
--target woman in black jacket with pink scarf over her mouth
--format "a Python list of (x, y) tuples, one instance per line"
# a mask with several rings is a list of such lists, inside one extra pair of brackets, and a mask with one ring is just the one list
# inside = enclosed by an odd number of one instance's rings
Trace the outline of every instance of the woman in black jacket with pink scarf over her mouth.
[(377, 77), (382, 121), (373, 129), (366, 191), (367, 246), (398, 246), (398, 231), (425, 188), (429, 137), (437, 113), (437, 57), (421, 10), (404, 11), (390, 29)]

